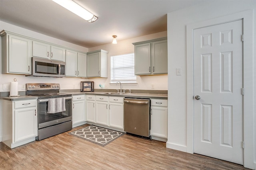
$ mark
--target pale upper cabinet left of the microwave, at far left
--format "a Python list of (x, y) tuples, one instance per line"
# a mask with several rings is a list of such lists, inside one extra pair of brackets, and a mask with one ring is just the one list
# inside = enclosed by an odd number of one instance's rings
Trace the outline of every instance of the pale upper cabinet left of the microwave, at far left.
[(2, 31), (2, 74), (30, 74), (32, 40)]

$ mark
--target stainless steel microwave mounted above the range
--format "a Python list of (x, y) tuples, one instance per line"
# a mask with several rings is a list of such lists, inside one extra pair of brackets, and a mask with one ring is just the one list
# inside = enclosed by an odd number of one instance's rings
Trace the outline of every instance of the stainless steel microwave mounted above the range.
[(31, 57), (32, 76), (65, 77), (66, 62)]

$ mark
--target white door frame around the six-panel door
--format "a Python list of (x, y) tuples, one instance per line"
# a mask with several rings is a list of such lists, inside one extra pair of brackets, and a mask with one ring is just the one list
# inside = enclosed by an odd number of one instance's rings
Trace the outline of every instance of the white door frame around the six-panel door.
[[(194, 118), (194, 85), (193, 85), (193, 30), (201, 27), (243, 19), (243, 137), (244, 166), (254, 168), (253, 152), (253, 10), (214, 18), (186, 25), (187, 45), (187, 152), (193, 153), (193, 118)], [(242, 37), (241, 37), (242, 38)], [(245, 114), (244, 114), (245, 113)]]

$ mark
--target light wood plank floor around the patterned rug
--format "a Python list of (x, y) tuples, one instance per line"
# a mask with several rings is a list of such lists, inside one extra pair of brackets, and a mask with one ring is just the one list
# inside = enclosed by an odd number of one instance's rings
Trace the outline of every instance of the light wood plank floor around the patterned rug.
[(71, 131), (14, 149), (1, 142), (0, 169), (246, 170), (242, 165), (167, 149), (166, 143), (160, 141), (123, 135), (102, 147), (68, 134)]

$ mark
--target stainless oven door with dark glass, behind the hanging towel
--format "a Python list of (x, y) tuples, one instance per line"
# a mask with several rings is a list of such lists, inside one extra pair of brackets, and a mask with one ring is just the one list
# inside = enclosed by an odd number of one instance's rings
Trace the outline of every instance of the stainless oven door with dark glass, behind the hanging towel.
[(38, 129), (72, 120), (72, 97), (65, 97), (66, 111), (47, 113), (48, 99), (38, 99)]

